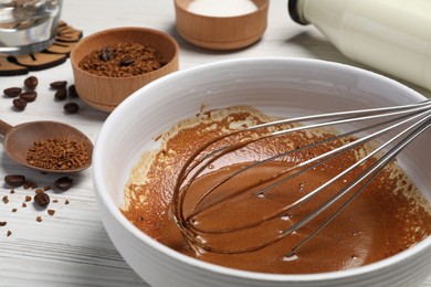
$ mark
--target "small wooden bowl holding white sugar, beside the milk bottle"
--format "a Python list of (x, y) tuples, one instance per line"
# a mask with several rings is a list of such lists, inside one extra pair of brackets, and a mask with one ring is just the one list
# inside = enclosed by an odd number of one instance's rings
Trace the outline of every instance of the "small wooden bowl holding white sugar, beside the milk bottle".
[(209, 17), (190, 12), (193, 0), (175, 0), (178, 33), (190, 43), (210, 50), (235, 50), (256, 42), (267, 22), (269, 0), (253, 0), (257, 10), (235, 17)]

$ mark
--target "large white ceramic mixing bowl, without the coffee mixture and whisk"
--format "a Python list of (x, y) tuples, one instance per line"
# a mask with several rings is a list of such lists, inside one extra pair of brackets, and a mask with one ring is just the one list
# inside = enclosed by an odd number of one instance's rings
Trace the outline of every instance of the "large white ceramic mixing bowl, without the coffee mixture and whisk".
[[(104, 124), (94, 150), (94, 183), (105, 227), (126, 262), (153, 286), (414, 286), (431, 270), (431, 237), (360, 268), (271, 275), (224, 268), (179, 254), (154, 241), (119, 212), (128, 173), (153, 138), (204, 105), (251, 105), (267, 114), (304, 115), (414, 103), (412, 89), (364, 70), (299, 59), (254, 59), (176, 72), (137, 91)], [(431, 198), (431, 132), (402, 153), (400, 164)]]

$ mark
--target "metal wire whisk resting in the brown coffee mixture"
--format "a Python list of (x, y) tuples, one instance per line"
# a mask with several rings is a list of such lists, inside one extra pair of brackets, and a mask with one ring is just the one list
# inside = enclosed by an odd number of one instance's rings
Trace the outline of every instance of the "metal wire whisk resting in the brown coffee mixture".
[[(291, 251), (286, 251), (285, 256), (291, 256), (322, 228), (324, 228), (330, 221), (333, 221), (366, 189), (372, 180), (375, 180), (377, 174), (379, 174), (379, 172), (383, 170), (400, 151), (402, 151), (413, 139), (428, 129), (431, 125), (430, 118), (431, 100), (424, 100), (403, 106), (296, 117), (246, 127), (241, 130), (232, 131), (228, 135), (222, 135), (209, 141), (207, 145), (199, 147), (186, 162), (178, 177), (172, 200), (172, 213), (177, 226), (181, 231), (183, 237), (193, 246), (217, 253), (240, 254), (259, 251), (280, 242), (308, 224), (316, 216), (334, 205), (335, 208), (333, 206), (330, 215), (319, 223), (317, 228), (312, 231)], [(285, 128), (286, 126), (288, 127)], [(192, 201), (192, 206), (188, 208), (188, 211), (186, 212), (185, 204), (188, 200), (187, 198), (190, 195), (188, 193), (190, 192), (192, 184), (195, 184), (202, 174), (211, 172), (211, 170), (213, 170), (214, 162), (223, 157), (229, 157), (232, 152), (235, 152), (249, 145), (256, 145), (274, 137), (338, 126), (341, 130), (338, 135), (319, 139), (304, 147), (291, 147), (278, 155), (263, 160), (242, 163), (242, 168), (228, 172), (221, 180), (211, 183), (209, 188), (201, 191), (197, 199)], [(349, 129), (341, 128), (345, 126), (348, 126)], [(254, 136), (252, 136), (251, 134), (253, 131), (262, 132), (253, 134)], [(233, 139), (235, 141), (233, 141)], [(376, 140), (378, 140), (378, 144), (375, 144)], [(228, 182), (233, 181), (235, 178), (241, 177), (244, 172), (257, 169), (261, 164), (276, 161), (285, 157), (295, 157), (298, 152), (304, 152), (332, 141), (340, 141), (343, 145), (335, 146), (320, 155), (299, 161), (292, 167), (274, 173), (271, 179), (257, 181), (256, 184), (252, 184), (245, 190), (239, 189), (225, 195), (214, 196), (218, 189)], [(265, 196), (265, 194), (271, 193), (271, 191), (276, 187), (290, 182), (301, 174), (311, 172), (317, 167), (325, 164), (325, 162), (337, 159), (346, 152), (349, 152), (358, 147), (362, 147), (364, 145), (368, 145), (370, 141), (375, 144), (371, 145), (372, 149), (357, 158), (357, 160), (347, 169), (330, 178), (330, 180), (322, 182), (322, 184), (314, 188), (305, 195), (288, 204), (280, 206), (278, 210), (273, 211), (271, 214), (262, 215), (251, 222), (244, 222), (243, 224), (222, 228), (206, 230), (197, 224), (197, 217), (208, 209), (218, 205), (223, 206), (223, 204), (229, 201), (234, 202), (238, 196), (250, 192), (250, 190), (252, 190), (252, 196)], [(204, 238), (206, 234), (230, 234), (244, 230), (253, 230), (271, 220), (286, 216), (291, 210), (297, 209), (307, 201), (316, 198), (320, 192), (330, 188), (337, 181), (344, 179), (344, 177), (346, 177), (349, 172), (355, 169), (359, 169), (359, 167), (364, 167), (366, 162), (369, 162), (366, 164), (366, 168), (362, 168), (360, 169), (360, 172), (355, 173), (356, 176), (354, 179), (333, 193), (318, 208), (305, 214), (294, 224), (276, 231), (269, 240), (248, 247), (221, 248), (212, 246), (211, 243)], [(211, 196), (216, 199), (210, 200), (209, 203), (206, 202)]]

